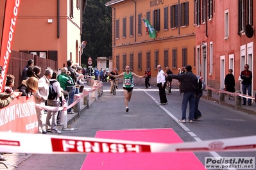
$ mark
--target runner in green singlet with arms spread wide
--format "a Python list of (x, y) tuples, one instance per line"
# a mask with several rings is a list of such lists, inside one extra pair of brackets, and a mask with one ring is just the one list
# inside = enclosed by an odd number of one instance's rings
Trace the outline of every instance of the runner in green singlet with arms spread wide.
[(124, 76), (124, 80), (123, 80), (123, 89), (124, 89), (124, 105), (125, 105), (125, 111), (128, 112), (129, 108), (128, 108), (128, 102), (130, 102), (131, 97), (132, 97), (132, 90), (134, 87), (133, 84), (133, 76), (142, 79), (147, 77), (147, 75), (137, 75), (133, 72), (130, 72), (130, 66), (125, 66), (125, 72), (119, 74), (119, 75), (112, 75), (110, 73), (108, 73), (108, 75), (110, 77), (114, 77), (114, 78), (118, 78), (120, 76)]

